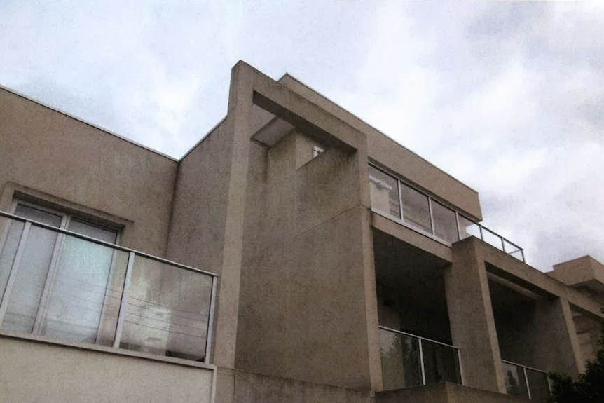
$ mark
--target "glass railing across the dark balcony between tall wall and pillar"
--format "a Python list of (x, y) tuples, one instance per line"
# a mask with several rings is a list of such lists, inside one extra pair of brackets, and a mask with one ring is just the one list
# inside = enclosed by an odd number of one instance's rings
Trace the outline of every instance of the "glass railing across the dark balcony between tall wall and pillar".
[(438, 382), (462, 384), (458, 348), (380, 326), (384, 390)]

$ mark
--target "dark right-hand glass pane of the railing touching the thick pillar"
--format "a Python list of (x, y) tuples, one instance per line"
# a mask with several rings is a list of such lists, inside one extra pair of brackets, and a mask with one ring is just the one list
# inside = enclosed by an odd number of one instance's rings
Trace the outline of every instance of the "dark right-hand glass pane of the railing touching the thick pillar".
[(457, 350), (432, 341), (422, 340), (426, 383), (461, 383)]

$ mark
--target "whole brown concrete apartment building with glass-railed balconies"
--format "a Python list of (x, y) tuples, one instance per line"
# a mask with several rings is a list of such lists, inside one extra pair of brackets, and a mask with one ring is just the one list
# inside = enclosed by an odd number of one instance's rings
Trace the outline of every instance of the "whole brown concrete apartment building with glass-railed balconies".
[(285, 75), (233, 67), (180, 160), (0, 89), (0, 401), (543, 402), (604, 266), (553, 275), (479, 195)]

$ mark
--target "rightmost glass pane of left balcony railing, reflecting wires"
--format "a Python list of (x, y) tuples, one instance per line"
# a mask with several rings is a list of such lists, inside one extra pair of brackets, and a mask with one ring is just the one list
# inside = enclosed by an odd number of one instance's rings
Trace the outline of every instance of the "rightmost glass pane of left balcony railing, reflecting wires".
[(137, 256), (120, 347), (203, 360), (212, 278)]

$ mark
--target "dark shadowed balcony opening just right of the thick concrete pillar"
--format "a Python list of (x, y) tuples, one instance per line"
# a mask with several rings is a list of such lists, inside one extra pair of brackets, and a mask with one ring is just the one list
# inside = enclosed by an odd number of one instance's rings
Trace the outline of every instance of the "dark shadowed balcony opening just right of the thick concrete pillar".
[(507, 393), (547, 402), (547, 357), (543, 349), (537, 348), (540, 341), (535, 339), (536, 332), (544, 332), (537, 329), (544, 296), (492, 273), (488, 273), (488, 286)]

